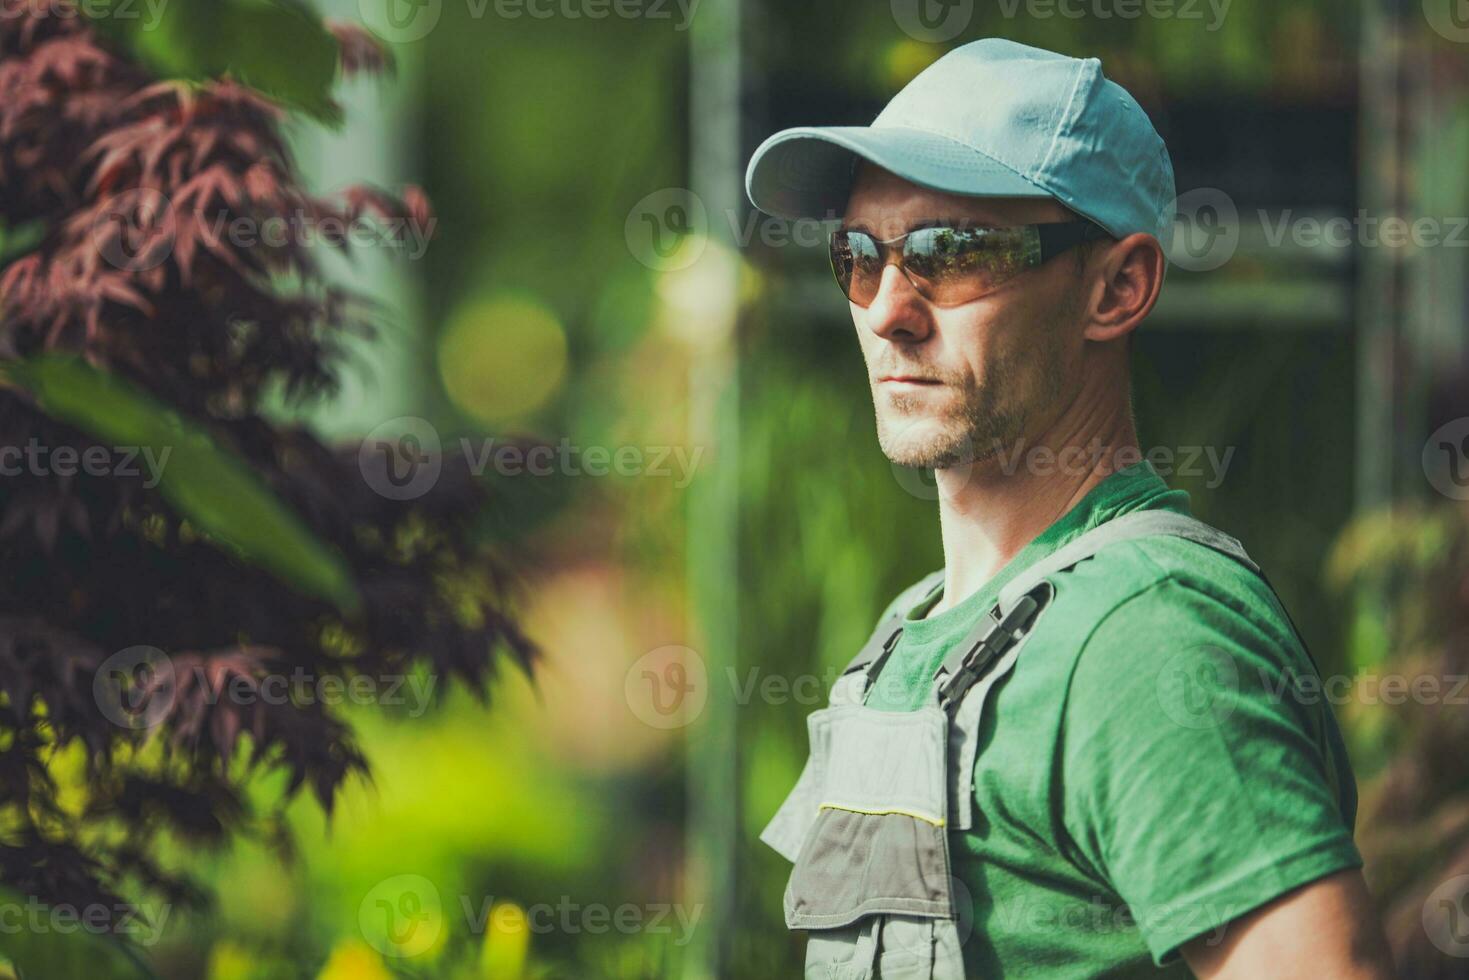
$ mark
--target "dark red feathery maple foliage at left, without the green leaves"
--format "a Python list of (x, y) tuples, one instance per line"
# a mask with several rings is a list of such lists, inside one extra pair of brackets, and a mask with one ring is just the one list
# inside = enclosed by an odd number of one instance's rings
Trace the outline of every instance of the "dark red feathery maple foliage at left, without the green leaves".
[[(159, 833), (219, 842), (269, 826), (242, 793), (260, 767), (285, 770), (328, 808), (366, 771), (331, 705), (222, 696), (226, 685), (417, 669), (482, 691), (498, 649), (526, 661), (530, 646), (507, 614), (505, 572), (474, 544), (480, 482), (445, 460), (433, 492), (392, 501), (364, 482), (354, 450), (259, 411), (267, 386), (329, 394), (336, 336), (370, 331), (373, 314), (322, 275), (316, 250), (347, 248), (339, 235), (242, 244), (222, 229), (426, 229), (423, 194), (307, 192), (278, 106), (229, 81), (150, 78), (84, 19), (53, 16), (59, 7), (0, 0), (0, 226), (37, 235), (0, 273), (0, 357), (81, 353), (209, 425), (347, 558), (364, 598), (342, 620), (234, 560), (145, 475), (0, 478), (0, 880), (84, 904), (131, 876), (185, 901), (197, 898), (188, 882), (150, 858)], [(344, 71), (386, 66), (360, 29), (333, 32)], [(91, 445), (0, 389), (0, 447), (31, 441)], [(447, 580), (461, 588), (448, 595)], [(132, 730), (100, 710), (94, 680), (140, 645), (166, 651), (173, 677), (153, 692), (157, 723)], [(162, 752), (134, 752), (148, 739)], [(62, 810), (47, 768), (75, 743), (87, 758), (81, 813)], [(100, 827), (120, 829), (120, 842)]]

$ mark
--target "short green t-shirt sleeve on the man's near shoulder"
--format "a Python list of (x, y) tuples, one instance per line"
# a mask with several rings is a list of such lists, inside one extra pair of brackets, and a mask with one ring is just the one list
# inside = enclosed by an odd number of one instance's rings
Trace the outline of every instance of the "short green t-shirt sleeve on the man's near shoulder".
[(1362, 864), (1350, 768), (1282, 621), (1163, 579), (1093, 630), (1066, 693), (1064, 821), (1153, 959)]

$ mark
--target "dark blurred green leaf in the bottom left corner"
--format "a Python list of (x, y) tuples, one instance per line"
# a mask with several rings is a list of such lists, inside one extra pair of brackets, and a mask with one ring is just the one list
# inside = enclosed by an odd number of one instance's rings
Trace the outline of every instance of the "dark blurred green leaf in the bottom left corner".
[[(120, 936), (98, 932), (109, 923), (119, 930), (144, 929), (138, 920), (125, 927), (112, 908), (106, 908), (107, 915), (101, 918), (88, 915), (93, 911), (88, 908), (63, 914), (4, 889), (0, 889), (0, 908), (12, 909), (7, 917), (12, 927), (0, 932), (0, 964), (9, 959), (19, 980), (157, 980)], [(0, 977), (4, 976), (9, 974), (0, 965)]]

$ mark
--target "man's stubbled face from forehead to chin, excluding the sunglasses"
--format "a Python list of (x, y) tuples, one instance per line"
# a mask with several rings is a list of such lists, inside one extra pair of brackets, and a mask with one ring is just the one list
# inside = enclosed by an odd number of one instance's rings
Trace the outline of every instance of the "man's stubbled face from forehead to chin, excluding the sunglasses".
[[(943, 194), (864, 163), (845, 226), (889, 239), (933, 223), (1072, 219), (1049, 198)], [(914, 467), (962, 466), (1053, 422), (1077, 391), (1086, 284), (1075, 254), (1065, 253), (972, 303), (936, 307), (889, 264), (873, 304), (851, 304), (887, 458)]]

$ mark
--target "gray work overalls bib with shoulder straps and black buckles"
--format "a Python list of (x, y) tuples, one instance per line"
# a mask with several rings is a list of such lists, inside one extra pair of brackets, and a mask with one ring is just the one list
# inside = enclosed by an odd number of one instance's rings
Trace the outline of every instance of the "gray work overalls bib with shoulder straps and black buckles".
[[(809, 979), (961, 980), (972, 908), (949, 870), (949, 833), (974, 823), (980, 714), (1043, 614), (1050, 577), (1109, 544), (1175, 535), (1259, 573), (1240, 542), (1193, 517), (1136, 511), (1089, 530), (1022, 572), (949, 652), (930, 704), (878, 711), (862, 702), (902, 635), (906, 610), (883, 621), (806, 720), (811, 755), (761, 833), (795, 862), (786, 926), (809, 932)], [(924, 580), (927, 594), (942, 572)]]

